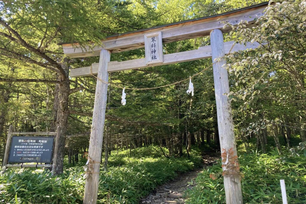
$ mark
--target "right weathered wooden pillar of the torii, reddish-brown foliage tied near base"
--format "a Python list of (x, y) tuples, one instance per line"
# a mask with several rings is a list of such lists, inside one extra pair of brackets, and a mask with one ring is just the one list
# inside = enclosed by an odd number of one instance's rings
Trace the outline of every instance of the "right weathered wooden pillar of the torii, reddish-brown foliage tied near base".
[(222, 67), (226, 65), (223, 33), (221, 30), (215, 29), (211, 31), (210, 37), (226, 204), (242, 204), (241, 174), (232, 109), (226, 95), (230, 92), (229, 80), (226, 67)]

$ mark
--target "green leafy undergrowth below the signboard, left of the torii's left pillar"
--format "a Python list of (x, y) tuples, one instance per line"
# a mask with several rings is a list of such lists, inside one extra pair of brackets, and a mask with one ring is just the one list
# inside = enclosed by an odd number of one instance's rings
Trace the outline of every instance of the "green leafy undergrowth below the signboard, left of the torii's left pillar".
[(84, 179), (80, 172), (51, 176), (49, 171), (10, 169), (0, 176), (2, 203), (81, 203)]

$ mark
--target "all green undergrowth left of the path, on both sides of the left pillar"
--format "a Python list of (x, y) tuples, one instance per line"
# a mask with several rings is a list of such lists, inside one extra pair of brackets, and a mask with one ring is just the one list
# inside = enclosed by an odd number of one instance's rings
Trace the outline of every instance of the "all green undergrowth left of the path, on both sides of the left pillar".
[[(158, 185), (201, 165), (199, 150), (191, 158), (165, 158), (158, 147), (112, 152), (108, 172), (101, 169), (98, 203), (138, 203)], [(9, 169), (0, 175), (0, 203), (82, 203), (84, 162), (51, 176), (48, 171)], [(68, 165), (67, 165), (68, 166)]]

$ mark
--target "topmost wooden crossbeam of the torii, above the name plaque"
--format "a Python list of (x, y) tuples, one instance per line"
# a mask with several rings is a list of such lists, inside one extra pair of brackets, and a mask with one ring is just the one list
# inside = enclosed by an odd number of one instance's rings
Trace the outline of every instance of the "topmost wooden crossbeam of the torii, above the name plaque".
[(69, 57), (91, 57), (98, 56), (101, 49), (110, 50), (112, 53), (134, 50), (144, 47), (144, 35), (150, 33), (162, 32), (162, 42), (170, 43), (185, 39), (191, 39), (209, 35), (211, 30), (220, 29), (223, 32), (229, 32), (231, 29), (223, 29), (222, 21), (228, 21), (232, 25), (237, 25), (241, 20), (247, 21), (248, 26), (252, 26), (254, 19), (263, 15), (266, 5), (230, 13), (223, 16), (211, 17), (206, 19), (182, 22), (174, 25), (165, 25), (164, 27), (153, 28), (146, 31), (139, 31), (119, 36), (110, 37), (102, 40), (101, 46), (80, 47), (79, 44), (63, 44), (64, 53)]

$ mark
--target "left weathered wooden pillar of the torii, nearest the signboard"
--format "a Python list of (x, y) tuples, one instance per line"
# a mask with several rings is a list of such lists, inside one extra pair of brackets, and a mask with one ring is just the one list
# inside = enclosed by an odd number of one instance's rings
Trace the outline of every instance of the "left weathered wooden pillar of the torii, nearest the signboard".
[[(108, 82), (107, 64), (110, 61), (110, 51), (101, 50), (98, 78)], [(94, 112), (92, 115), (91, 133), (88, 150), (88, 168), (84, 191), (84, 204), (96, 204), (98, 198), (99, 173), (103, 143), (103, 130), (107, 99), (107, 83), (97, 80)]]

